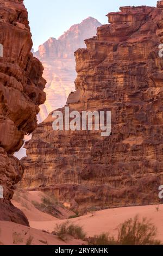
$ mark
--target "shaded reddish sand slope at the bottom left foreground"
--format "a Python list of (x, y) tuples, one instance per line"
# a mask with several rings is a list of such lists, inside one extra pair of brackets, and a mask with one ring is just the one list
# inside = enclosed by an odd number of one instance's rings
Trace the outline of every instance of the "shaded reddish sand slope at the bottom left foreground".
[(26, 245), (29, 237), (32, 237), (31, 245), (83, 245), (81, 240), (68, 237), (66, 242), (57, 236), (47, 234), (41, 230), (28, 228), (12, 222), (0, 221), (0, 245)]

